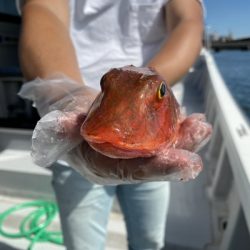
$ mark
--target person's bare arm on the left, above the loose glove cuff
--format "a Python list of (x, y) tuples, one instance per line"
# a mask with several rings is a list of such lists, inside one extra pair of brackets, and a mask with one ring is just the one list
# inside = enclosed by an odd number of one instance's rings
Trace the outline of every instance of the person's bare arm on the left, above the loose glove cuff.
[(82, 82), (69, 22), (67, 0), (24, 2), (19, 58), (27, 80), (63, 73)]

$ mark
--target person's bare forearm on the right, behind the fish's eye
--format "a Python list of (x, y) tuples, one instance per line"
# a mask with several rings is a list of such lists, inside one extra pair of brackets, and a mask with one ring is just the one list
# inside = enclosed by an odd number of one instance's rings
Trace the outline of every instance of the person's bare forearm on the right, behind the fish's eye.
[(173, 85), (193, 65), (202, 46), (203, 13), (198, 0), (170, 0), (166, 4), (168, 39), (149, 66)]

